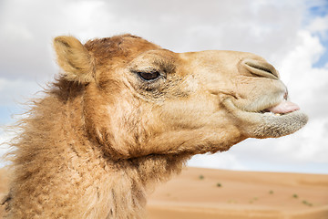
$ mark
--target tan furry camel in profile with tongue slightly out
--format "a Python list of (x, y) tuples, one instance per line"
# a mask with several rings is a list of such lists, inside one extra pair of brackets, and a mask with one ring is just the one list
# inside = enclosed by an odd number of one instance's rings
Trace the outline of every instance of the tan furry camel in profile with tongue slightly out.
[(144, 218), (147, 193), (193, 155), (308, 120), (251, 53), (174, 53), (131, 35), (54, 47), (60, 74), (11, 142), (6, 218)]

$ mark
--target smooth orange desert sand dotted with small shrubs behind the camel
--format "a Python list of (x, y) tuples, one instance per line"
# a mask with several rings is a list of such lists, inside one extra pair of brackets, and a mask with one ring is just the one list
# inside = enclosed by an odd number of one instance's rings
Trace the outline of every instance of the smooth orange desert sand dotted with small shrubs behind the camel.
[[(6, 183), (0, 169), (0, 198)], [(149, 219), (328, 219), (328, 175), (186, 168), (149, 195), (148, 214)]]

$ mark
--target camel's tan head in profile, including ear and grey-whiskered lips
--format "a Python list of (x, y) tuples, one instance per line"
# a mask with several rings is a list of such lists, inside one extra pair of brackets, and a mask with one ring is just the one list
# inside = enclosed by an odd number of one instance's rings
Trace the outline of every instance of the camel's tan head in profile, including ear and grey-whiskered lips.
[(174, 53), (130, 35), (54, 45), (59, 80), (83, 87), (87, 136), (113, 158), (226, 151), (307, 122), (278, 71), (251, 53)]

